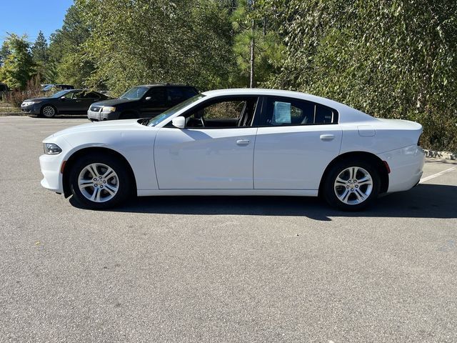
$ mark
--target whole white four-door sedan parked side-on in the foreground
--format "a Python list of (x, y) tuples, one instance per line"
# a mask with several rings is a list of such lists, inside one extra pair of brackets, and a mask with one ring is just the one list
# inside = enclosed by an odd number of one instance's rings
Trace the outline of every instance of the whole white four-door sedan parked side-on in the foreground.
[(74, 126), (44, 139), (41, 185), (105, 209), (131, 195), (321, 195), (359, 210), (421, 179), (422, 126), (318, 96), (206, 91), (152, 119)]

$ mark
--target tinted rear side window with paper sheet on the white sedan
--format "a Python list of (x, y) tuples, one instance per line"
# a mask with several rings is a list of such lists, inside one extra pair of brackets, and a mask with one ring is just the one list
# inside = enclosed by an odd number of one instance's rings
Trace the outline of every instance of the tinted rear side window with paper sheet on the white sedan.
[(269, 97), (263, 125), (331, 124), (334, 111), (309, 101)]

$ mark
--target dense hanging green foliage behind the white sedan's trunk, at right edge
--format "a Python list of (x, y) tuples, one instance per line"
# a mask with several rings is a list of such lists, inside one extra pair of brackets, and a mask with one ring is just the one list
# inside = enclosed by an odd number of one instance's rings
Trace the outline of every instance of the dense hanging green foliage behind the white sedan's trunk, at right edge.
[(457, 148), (455, 1), (273, 4), (281, 9), (286, 54), (271, 86), (419, 121), (426, 146)]

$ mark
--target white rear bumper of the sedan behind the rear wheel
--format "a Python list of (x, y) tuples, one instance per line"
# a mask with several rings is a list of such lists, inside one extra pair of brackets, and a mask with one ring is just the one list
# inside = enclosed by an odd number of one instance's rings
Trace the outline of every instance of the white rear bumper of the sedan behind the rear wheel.
[(387, 161), (391, 173), (388, 175), (388, 193), (401, 192), (413, 188), (422, 177), (425, 153), (421, 146), (411, 145), (405, 148), (378, 154)]

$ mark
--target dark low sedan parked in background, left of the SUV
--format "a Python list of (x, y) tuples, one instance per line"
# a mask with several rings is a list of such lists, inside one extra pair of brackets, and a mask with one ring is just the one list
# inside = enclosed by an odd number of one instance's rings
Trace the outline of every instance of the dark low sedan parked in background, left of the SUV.
[(56, 114), (86, 114), (95, 101), (109, 99), (97, 91), (71, 89), (58, 91), (45, 98), (27, 99), (21, 104), (23, 112), (51, 118)]

